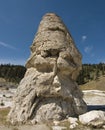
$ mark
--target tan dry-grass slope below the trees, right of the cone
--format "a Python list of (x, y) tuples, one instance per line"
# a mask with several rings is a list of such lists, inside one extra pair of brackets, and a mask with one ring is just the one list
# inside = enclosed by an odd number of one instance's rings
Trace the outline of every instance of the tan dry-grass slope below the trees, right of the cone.
[(90, 81), (80, 86), (81, 90), (101, 90), (105, 91), (105, 77)]

